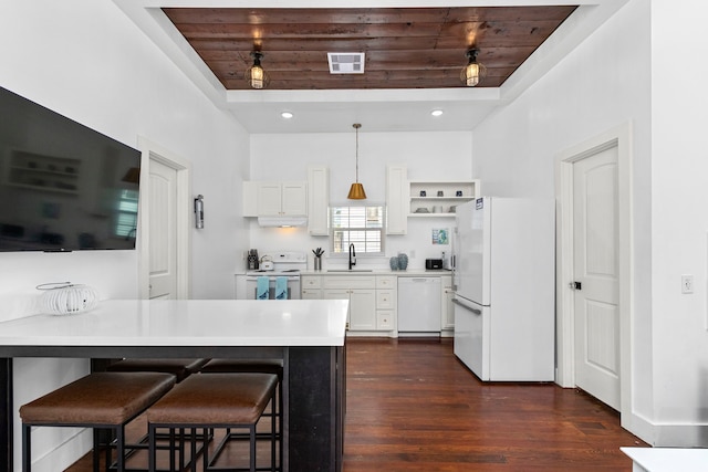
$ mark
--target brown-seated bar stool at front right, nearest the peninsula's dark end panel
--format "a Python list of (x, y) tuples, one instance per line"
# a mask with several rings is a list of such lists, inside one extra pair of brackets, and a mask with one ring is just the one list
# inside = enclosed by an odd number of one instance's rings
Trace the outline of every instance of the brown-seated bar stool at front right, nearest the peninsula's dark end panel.
[[(201, 438), (207, 438), (207, 429), (247, 429), (249, 439), (249, 469), (229, 468), (230, 471), (256, 471), (256, 427), (270, 401), (275, 400), (278, 376), (272, 374), (210, 374), (196, 375), (185, 379), (146, 412), (149, 436), (149, 470), (156, 465), (156, 431), (167, 428), (204, 429)], [(191, 434), (191, 457), (197, 451), (197, 434)], [(208, 448), (204, 448), (204, 471), (212, 471), (223, 447), (232, 438), (227, 434), (215, 449), (210, 459)], [(275, 417), (271, 417), (271, 471), (275, 470)], [(181, 448), (184, 441), (179, 441)], [(175, 470), (174, 442), (170, 443), (170, 470)], [(281, 448), (282, 449), (282, 448)], [(184, 457), (184, 454), (180, 454)], [(184, 464), (179, 464), (180, 469)], [(191, 462), (192, 472), (196, 461)]]

